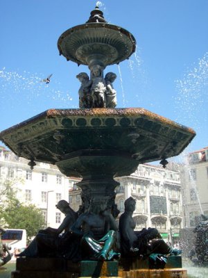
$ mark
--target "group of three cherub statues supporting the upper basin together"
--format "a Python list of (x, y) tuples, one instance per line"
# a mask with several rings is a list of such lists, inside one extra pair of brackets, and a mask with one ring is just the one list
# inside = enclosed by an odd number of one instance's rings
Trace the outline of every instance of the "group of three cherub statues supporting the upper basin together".
[(91, 69), (91, 79), (86, 72), (80, 72), (76, 78), (81, 83), (78, 91), (80, 108), (116, 107), (116, 90), (112, 85), (116, 74), (108, 72), (103, 78), (103, 67), (94, 65)]

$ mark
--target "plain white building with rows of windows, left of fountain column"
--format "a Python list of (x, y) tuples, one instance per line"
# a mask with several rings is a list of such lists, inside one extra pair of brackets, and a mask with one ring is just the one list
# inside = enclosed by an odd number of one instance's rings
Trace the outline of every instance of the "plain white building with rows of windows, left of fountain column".
[(32, 171), (28, 162), (0, 147), (0, 183), (3, 185), (6, 179), (10, 179), (18, 188), (17, 197), (21, 202), (40, 208), (46, 226), (59, 227), (64, 215), (55, 208), (55, 204), (60, 199), (68, 201), (73, 180), (64, 176), (55, 165), (37, 163)]

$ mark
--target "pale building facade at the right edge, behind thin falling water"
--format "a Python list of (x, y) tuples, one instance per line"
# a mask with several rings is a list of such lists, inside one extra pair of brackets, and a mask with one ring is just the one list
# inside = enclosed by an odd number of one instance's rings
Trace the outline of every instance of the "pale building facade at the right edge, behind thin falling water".
[(181, 182), (184, 228), (193, 228), (197, 216), (208, 217), (208, 147), (188, 154)]

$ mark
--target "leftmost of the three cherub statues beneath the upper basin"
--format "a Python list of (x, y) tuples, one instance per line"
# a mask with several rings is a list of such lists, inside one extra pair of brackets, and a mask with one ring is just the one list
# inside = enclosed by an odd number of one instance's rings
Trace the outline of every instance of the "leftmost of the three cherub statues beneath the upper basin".
[(80, 108), (92, 108), (92, 96), (90, 95), (90, 87), (92, 81), (89, 80), (88, 74), (86, 72), (80, 72), (76, 78), (81, 82), (79, 94), (79, 107)]

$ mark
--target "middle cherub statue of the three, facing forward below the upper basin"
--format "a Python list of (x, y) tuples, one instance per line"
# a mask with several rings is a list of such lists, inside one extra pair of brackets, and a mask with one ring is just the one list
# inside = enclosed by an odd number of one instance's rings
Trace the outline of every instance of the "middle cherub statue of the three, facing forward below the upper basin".
[(91, 78), (92, 78), (92, 101), (93, 107), (106, 107), (105, 106), (105, 92), (106, 84), (105, 79), (103, 78), (103, 67), (100, 65), (94, 65), (91, 69)]

